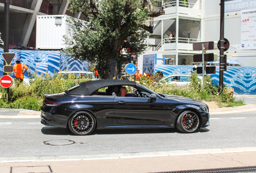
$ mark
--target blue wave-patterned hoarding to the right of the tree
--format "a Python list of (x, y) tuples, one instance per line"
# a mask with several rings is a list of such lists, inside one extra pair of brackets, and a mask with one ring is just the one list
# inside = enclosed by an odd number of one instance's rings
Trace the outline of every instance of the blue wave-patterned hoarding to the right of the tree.
[[(155, 72), (163, 72), (163, 76), (170, 74), (189, 74), (193, 71), (191, 65), (155, 65)], [(227, 87), (234, 89), (234, 94), (256, 95), (256, 67), (255, 66), (227, 66), (223, 81)], [(219, 66), (215, 74), (211, 75), (213, 82), (219, 84)]]

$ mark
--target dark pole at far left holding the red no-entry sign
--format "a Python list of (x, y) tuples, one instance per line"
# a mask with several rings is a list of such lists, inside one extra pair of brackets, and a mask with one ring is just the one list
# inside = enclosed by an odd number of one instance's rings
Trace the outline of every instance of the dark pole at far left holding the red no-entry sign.
[[(10, 0), (4, 0), (4, 53), (9, 52)], [(4, 65), (5, 61), (4, 61)], [(4, 73), (6, 75), (6, 73)], [(6, 89), (6, 101), (10, 101), (10, 89)]]

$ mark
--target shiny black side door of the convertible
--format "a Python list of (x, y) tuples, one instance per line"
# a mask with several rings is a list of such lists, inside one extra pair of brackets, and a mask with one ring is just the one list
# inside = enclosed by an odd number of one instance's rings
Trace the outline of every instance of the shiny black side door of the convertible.
[(114, 114), (116, 121), (127, 125), (162, 125), (165, 120), (165, 103), (149, 97), (115, 97)]

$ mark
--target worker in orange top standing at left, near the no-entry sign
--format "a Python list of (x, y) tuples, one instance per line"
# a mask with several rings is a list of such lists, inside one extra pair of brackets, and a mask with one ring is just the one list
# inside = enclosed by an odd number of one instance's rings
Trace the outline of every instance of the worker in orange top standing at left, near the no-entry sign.
[[(15, 84), (17, 84), (17, 86), (19, 86), (19, 83), (23, 84), (23, 76), (24, 73), (29, 69), (25, 64), (21, 64), (21, 59), (20, 58), (16, 58), (15, 59), (16, 64), (14, 64), (13, 66), (13, 71), (14, 71), (14, 81)], [(23, 69), (25, 68), (25, 70), (23, 71)]]

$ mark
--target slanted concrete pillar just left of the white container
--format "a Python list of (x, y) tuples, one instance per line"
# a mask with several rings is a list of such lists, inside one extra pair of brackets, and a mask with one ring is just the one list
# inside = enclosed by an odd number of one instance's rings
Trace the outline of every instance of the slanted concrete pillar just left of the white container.
[(29, 37), (30, 37), (33, 27), (35, 25), (35, 20), (37, 18), (37, 14), (40, 10), (42, 2), (43, 2), (43, 0), (33, 0), (30, 8), (34, 8), (34, 9), (31, 9), (31, 10), (34, 10), (34, 13), (28, 14), (26, 22), (23, 26), (21, 38), (20, 38), (18, 44), (21, 44), (25, 47), (27, 46), (27, 43), (29, 42)]

